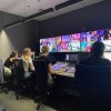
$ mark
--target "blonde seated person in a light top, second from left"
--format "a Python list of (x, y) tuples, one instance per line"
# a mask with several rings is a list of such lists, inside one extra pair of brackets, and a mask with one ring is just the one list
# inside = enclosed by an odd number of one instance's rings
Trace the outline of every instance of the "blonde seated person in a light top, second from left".
[(34, 71), (30, 48), (23, 49), (21, 60), (24, 69), (24, 77), (28, 78), (30, 77), (29, 70)]

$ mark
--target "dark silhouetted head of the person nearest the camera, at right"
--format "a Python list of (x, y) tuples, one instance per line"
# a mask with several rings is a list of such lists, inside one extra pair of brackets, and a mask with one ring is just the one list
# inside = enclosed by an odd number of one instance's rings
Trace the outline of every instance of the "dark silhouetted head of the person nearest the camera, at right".
[(103, 42), (94, 42), (91, 48), (91, 57), (100, 58), (103, 56), (104, 44)]

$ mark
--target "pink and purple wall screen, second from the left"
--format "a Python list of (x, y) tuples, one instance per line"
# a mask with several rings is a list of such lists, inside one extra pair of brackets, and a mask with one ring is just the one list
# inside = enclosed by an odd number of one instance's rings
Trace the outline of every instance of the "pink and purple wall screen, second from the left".
[[(77, 52), (80, 51), (80, 33), (58, 37), (58, 52)], [(57, 40), (58, 40), (57, 39)]]

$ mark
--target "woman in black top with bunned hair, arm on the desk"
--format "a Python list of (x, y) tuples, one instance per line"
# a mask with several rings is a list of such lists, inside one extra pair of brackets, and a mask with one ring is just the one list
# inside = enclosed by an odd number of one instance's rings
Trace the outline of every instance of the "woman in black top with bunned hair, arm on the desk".
[[(52, 63), (51, 63), (51, 60), (50, 58), (48, 58), (48, 54), (49, 54), (49, 47), (47, 46), (42, 46), (41, 48), (41, 56), (38, 58), (38, 60), (44, 60), (46, 63), (47, 63), (47, 68), (48, 68), (48, 71), (50, 74), (58, 74), (58, 73), (61, 73), (64, 71), (64, 69), (60, 69), (58, 71), (53, 71), (52, 70)], [(49, 74), (49, 78), (52, 80), (51, 75)]]

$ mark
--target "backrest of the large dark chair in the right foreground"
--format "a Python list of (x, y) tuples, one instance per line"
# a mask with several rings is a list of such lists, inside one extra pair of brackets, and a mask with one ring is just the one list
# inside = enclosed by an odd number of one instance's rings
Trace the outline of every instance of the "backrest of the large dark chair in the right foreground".
[(80, 85), (103, 90), (110, 87), (110, 65), (77, 65), (77, 74)]

